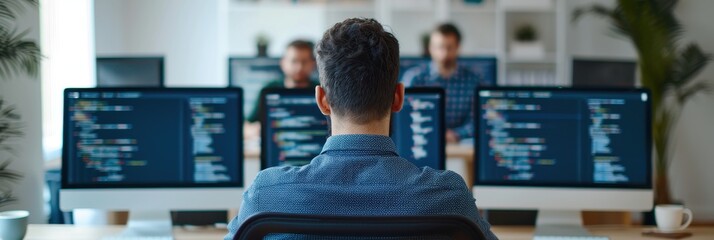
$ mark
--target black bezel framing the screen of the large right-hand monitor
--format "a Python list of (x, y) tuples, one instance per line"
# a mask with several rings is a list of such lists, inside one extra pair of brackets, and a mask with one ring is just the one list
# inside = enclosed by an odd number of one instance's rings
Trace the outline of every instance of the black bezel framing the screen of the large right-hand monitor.
[(475, 187), (478, 186), (488, 186), (488, 187), (533, 187), (533, 188), (589, 188), (589, 189), (652, 189), (652, 103), (651, 94), (648, 89), (644, 88), (580, 88), (580, 87), (480, 87), (474, 91), (474, 131), (480, 130), (481, 125), (481, 95), (480, 91), (552, 91), (552, 92), (601, 92), (601, 93), (636, 93), (636, 94), (647, 94), (648, 98), (645, 102), (645, 148), (650, 149), (646, 151), (645, 158), (646, 161), (646, 176), (643, 184), (623, 184), (623, 183), (578, 183), (578, 184), (560, 184), (560, 183), (528, 183), (528, 182), (484, 182), (479, 180), (479, 144), (480, 138), (478, 134), (474, 136), (474, 175), (473, 184)]

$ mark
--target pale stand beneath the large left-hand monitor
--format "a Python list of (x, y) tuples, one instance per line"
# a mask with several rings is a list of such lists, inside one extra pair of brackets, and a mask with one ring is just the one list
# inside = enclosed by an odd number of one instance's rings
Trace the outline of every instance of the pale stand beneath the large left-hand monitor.
[(121, 237), (162, 237), (173, 239), (169, 210), (131, 210)]

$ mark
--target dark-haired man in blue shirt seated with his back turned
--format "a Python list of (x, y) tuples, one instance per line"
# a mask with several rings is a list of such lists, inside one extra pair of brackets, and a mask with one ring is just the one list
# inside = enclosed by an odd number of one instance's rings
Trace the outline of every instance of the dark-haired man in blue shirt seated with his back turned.
[(320, 86), (315, 99), (331, 119), (332, 136), (310, 164), (259, 172), (225, 239), (260, 212), (454, 214), (496, 239), (461, 176), (418, 168), (397, 155), (389, 137), (390, 113), (401, 110), (404, 100), (404, 85), (397, 81), (397, 39), (373, 19), (352, 18), (328, 29), (316, 53)]

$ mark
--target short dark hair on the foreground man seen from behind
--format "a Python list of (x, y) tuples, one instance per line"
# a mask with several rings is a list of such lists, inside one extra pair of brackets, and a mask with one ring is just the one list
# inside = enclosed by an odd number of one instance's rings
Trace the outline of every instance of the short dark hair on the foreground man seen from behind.
[(320, 85), (332, 112), (357, 124), (390, 113), (399, 75), (399, 42), (374, 19), (350, 18), (317, 44)]

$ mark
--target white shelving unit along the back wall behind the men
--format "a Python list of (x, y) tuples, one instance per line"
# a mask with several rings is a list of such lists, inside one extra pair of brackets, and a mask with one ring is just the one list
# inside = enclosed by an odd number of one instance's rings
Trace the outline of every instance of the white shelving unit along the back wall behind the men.
[[(278, 13), (276, 12), (278, 9)], [(298, 14), (284, 14), (287, 10)], [(461, 55), (495, 56), (498, 59), (499, 85), (569, 85), (565, 76), (567, 67), (566, 27), (568, 24), (564, 0), (483, 0), (468, 3), (464, 0), (302, 0), (302, 1), (238, 1), (231, 2), (229, 15), (233, 22), (255, 21), (255, 17), (280, 18), (281, 22), (306, 21), (319, 26), (306, 26), (302, 30), (307, 38), (317, 40), (321, 31), (349, 17), (370, 17), (392, 29), (400, 41), (403, 56), (422, 54), (422, 36), (442, 22), (453, 22), (463, 35)], [(294, 18), (294, 19), (293, 19)], [(515, 58), (510, 55), (510, 42), (519, 24), (532, 24), (545, 46), (542, 58)], [(270, 52), (279, 53), (280, 46), (295, 36), (285, 28), (271, 31), (271, 26), (255, 22), (250, 31), (264, 29), (275, 35)], [(233, 27), (231, 27), (233, 28)], [(241, 32), (239, 27), (236, 31)], [(231, 29), (233, 30), (233, 29)], [(293, 32), (300, 32), (293, 29)], [(282, 34), (282, 35), (281, 35)], [(231, 35), (238, 44), (253, 46), (243, 35)], [(241, 38), (242, 39), (238, 39)], [(241, 42), (242, 41), (242, 42)], [(245, 47), (245, 46), (242, 46)], [(231, 48), (231, 54), (252, 55), (252, 49)], [(532, 72), (530, 72), (532, 71)], [(529, 79), (537, 77), (539, 79)], [(546, 78), (546, 79), (540, 79)]]

